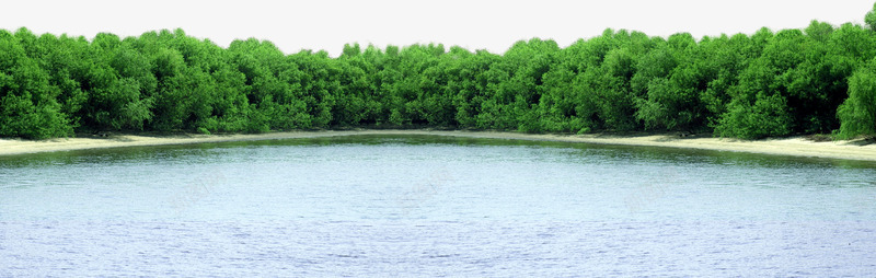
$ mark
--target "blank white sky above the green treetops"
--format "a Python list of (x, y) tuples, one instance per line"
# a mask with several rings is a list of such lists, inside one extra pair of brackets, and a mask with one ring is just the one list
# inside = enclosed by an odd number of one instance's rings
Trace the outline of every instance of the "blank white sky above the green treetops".
[(345, 43), (406, 46), (459, 45), (502, 54), (519, 39), (554, 39), (565, 47), (607, 27), (650, 36), (694, 37), (746, 33), (762, 26), (803, 28), (811, 20), (863, 24), (874, 0), (3, 0), (0, 28), (27, 27), (89, 39), (182, 27), (189, 36), (227, 47), (235, 38), (268, 39), (283, 51), (326, 50)]

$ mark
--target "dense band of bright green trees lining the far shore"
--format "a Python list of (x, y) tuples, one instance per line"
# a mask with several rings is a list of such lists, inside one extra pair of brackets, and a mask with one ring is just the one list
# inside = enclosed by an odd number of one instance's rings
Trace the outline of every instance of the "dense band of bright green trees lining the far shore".
[[(0, 30), (0, 136), (440, 127), (722, 137), (876, 135), (876, 20), (667, 38), (607, 30), (504, 55), (347, 45), (337, 58), (269, 42), (221, 48), (182, 30), (94, 39)], [(874, 18), (876, 19), (876, 18)]]

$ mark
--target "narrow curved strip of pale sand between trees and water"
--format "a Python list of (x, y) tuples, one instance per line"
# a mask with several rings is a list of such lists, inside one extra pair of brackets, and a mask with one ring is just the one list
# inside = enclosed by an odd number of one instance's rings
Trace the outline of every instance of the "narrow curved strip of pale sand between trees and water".
[(876, 161), (876, 144), (862, 141), (815, 142), (805, 138), (738, 140), (724, 138), (680, 138), (675, 135), (527, 135), (494, 131), (442, 131), (442, 130), (349, 130), (349, 131), (295, 131), (262, 135), (181, 135), (181, 136), (138, 136), (113, 135), (94, 138), (66, 138), (50, 140), (0, 139), (0, 155), (70, 151), (100, 148), (137, 146), (185, 144), (228, 141), (256, 141), (292, 138), (318, 138), (351, 135), (436, 135), (466, 138), (494, 138), (518, 140), (550, 140), (603, 144), (650, 146), (717, 151), (765, 153), (794, 157), (814, 157), (845, 160)]

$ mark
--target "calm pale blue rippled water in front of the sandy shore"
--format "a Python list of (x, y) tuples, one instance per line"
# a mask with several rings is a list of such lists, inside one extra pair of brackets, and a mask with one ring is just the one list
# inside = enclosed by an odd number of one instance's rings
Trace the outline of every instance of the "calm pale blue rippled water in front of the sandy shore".
[(443, 137), (0, 158), (0, 276), (873, 276), (876, 164)]

